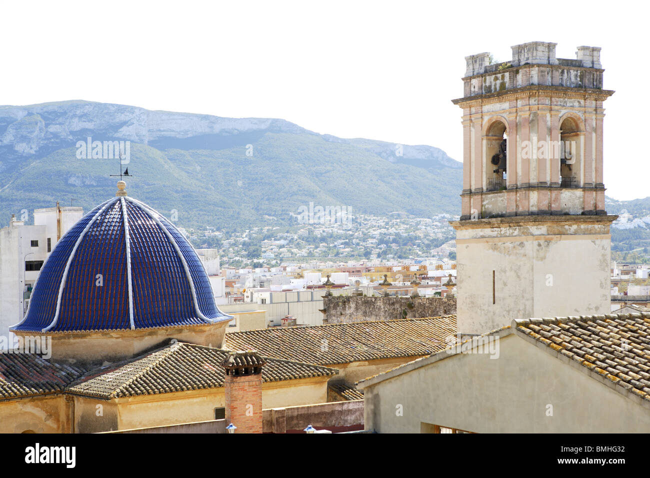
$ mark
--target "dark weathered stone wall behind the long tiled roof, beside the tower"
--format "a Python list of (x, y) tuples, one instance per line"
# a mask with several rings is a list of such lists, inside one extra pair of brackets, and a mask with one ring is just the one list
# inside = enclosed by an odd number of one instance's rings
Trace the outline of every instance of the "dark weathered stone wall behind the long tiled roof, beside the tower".
[(456, 313), (456, 299), (440, 297), (323, 297), (329, 324), (421, 319)]

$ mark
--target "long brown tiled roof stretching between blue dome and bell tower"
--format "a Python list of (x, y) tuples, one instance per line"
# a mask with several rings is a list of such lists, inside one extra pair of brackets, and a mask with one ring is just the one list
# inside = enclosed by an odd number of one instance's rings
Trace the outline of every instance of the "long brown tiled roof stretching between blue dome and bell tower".
[(429, 355), (456, 342), (456, 315), (267, 328), (226, 334), (230, 349), (255, 349), (266, 357), (331, 365)]

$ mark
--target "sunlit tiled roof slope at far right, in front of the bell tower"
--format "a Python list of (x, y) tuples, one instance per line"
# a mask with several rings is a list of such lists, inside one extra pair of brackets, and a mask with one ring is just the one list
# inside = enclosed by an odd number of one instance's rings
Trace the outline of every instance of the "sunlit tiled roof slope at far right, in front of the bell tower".
[(517, 331), (650, 401), (650, 313), (528, 319), (515, 325)]

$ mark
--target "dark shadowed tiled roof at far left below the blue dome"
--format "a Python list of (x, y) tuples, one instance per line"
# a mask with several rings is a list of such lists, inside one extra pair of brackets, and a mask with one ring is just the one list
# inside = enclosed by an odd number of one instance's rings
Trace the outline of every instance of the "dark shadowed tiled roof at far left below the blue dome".
[(0, 397), (12, 399), (62, 392), (83, 369), (45, 360), (37, 354), (0, 353)]

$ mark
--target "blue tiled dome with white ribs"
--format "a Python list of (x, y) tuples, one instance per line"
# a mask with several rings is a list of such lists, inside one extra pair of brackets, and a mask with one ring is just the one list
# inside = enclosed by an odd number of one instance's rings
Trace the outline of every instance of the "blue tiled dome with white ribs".
[(12, 330), (127, 330), (231, 318), (216, 308), (203, 264), (175, 226), (120, 196), (60, 239), (36, 280), (25, 319)]

